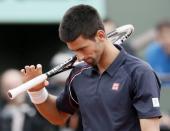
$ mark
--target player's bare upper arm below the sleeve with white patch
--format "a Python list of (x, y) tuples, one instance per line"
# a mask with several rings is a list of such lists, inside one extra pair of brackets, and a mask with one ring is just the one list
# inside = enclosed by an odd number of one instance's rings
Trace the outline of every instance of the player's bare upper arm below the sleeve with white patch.
[(159, 118), (140, 119), (141, 131), (160, 131)]

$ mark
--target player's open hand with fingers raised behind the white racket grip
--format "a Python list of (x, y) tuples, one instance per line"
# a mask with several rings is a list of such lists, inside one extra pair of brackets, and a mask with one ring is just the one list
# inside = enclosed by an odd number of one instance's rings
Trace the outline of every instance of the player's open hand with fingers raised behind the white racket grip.
[[(41, 75), (42, 74), (42, 66), (40, 64), (38, 64), (36, 67), (34, 65), (25, 66), (25, 69), (21, 69), (21, 73), (23, 76), (23, 82), (25, 83), (25, 82), (33, 79), (34, 77)], [(43, 83), (29, 89), (29, 91), (30, 92), (39, 91), (48, 85), (49, 85), (49, 82), (46, 80)]]

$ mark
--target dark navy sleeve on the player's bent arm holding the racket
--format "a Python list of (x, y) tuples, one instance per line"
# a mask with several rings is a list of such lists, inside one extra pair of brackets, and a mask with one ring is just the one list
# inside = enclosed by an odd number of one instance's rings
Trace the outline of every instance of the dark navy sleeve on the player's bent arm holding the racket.
[(71, 86), (71, 75), (70, 75), (66, 81), (65, 89), (58, 96), (56, 100), (57, 108), (60, 111), (73, 114), (78, 109), (78, 104), (74, 101), (75, 99), (77, 100), (77, 98), (75, 97), (76, 97), (75, 92), (73, 90), (73, 87)]

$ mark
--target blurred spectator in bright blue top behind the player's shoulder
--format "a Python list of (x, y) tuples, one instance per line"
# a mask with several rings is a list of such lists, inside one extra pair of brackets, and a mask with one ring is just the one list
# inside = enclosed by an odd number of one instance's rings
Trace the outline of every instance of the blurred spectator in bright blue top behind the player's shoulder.
[(146, 60), (158, 73), (162, 84), (170, 84), (170, 21), (156, 27), (156, 38), (146, 49)]

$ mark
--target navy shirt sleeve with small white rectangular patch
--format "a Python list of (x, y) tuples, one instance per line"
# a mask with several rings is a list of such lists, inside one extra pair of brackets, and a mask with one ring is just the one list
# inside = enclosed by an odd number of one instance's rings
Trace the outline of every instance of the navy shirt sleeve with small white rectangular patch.
[(133, 87), (133, 106), (140, 119), (161, 117), (160, 81), (150, 68), (136, 70)]

